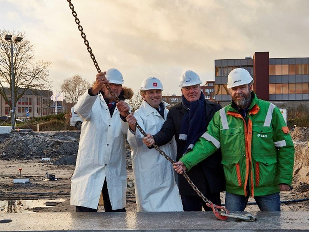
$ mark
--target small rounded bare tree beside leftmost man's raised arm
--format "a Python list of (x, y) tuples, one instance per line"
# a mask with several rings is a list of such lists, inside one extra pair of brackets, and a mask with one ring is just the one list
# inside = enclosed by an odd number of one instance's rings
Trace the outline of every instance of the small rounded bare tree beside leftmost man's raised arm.
[(66, 93), (66, 101), (76, 103), (78, 98), (90, 87), (86, 79), (80, 75), (67, 78), (61, 84), (61, 91)]

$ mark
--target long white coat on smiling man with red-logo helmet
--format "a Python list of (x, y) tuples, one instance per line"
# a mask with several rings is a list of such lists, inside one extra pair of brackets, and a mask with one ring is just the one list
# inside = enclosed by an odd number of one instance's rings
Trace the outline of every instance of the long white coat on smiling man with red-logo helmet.
[[(163, 102), (165, 107), (168, 106)], [(158, 111), (143, 101), (134, 112), (138, 124), (152, 135), (156, 134), (166, 120)], [(135, 135), (128, 131), (128, 142), (132, 149), (132, 167), (135, 181), (137, 211), (183, 211), (179, 190), (176, 184), (172, 164), (155, 149), (148, 149), (142, 141), (143, 135), (136, 129)], [(171, 142), (160, 147), (168, 156), (176, 160), (176, 143)]]

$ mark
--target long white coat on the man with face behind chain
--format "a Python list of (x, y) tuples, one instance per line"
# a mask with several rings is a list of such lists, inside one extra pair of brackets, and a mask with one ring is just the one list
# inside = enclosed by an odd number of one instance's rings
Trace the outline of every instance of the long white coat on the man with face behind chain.
[(128, 123), (120, 119), (117, 107), (110, 117), (101, 93), (90, 96), (86, 91), (74, 111), (84, 122), (71, 183), (71, 205), (96, 209), (106, 177), (112, 209), (124, 208)]

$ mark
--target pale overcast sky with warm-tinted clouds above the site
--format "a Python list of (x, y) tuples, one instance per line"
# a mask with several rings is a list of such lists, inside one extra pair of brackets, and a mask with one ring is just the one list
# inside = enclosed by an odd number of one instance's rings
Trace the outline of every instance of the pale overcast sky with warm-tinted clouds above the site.
[[(215, 59), (309, 57), (309, 1), (72, 0), (101, 70), (117, 68), (136, 91), (143, 79), (161, 79), (179, 94), (191, 69), (214, 80)], [(96, 69), (65, 0), (0, 0), (0, 28), (25, 32), (35, 59), (49, 61), (53, 91)]]

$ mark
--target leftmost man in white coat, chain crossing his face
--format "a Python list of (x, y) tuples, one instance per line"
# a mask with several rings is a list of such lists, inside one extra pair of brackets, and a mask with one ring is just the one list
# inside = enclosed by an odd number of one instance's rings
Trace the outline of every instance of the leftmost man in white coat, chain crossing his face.
[(92, 88), (74, 106), (84, 121), (71, 183), (71, 205), (77, 212), (97, 211), (101, 192), (105, 211), (125, 211), (128, 123), (124, 117), (129, 105), (124, 101), (116, 104), (105, 83), (120, 100), (133, 95), (131, 89), (122, 87), (122, 74), (108, 69), (96, 75)]

